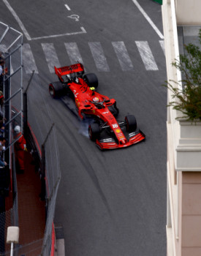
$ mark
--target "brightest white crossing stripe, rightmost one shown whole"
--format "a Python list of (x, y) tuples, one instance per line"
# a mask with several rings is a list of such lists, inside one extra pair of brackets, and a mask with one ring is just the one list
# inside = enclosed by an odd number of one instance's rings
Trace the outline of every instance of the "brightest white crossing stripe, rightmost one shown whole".
[(156, 61), (153, 58), (153, 54), (151, 53), (151, 49), (148, 46), (147, 41), (136, 41), (137, 48), (140, 52), (140, 56), (145, 64), (146, 70), (159, 70)]

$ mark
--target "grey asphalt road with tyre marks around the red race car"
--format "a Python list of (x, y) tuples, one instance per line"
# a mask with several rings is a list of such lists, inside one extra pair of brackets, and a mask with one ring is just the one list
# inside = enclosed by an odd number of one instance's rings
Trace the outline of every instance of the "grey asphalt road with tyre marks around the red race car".
[[(162, 12), (151, 0), (3, 0), (0, 20), (24, 34), (24, 83), (35, 69), (29, 98), (41, 143), (51, 124), (61, 167), (55, 223), (64, 228), (68, 256), (166, 254), (167, 95)], [(14, 18), (18, 15), (24, 27)], [(140, 10), (144, 10), (145, 13)], [(153, 27), (153, 24), (156, 28)], [(159, 33), (161, 32), (161, 34)], [(31, 55), (30, 55), (31, 54)], [(29, 58), (31, 56), (31, 58)], [(134, 114), (146, 140), (99, 151), (87, 127), (48, 84), (53, 65), (82, 61), (114, 98), (119, 118)]]

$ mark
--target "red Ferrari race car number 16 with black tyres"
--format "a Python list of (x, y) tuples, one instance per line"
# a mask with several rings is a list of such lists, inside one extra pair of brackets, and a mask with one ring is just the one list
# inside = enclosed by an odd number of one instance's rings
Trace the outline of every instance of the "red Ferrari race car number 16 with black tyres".
[(94, 73), (85, 74), (83, 64), (55, 67), (55, 73), (59, 81), (50, 83), (51, 97), (67, 95), (75, 101), (81, 119), (93, 118), (88, 135), (100, 149), (124, 148), (145, 140), (134, 116), (126, 116), (124, 121), (115, 119), (118, 116), (115, 99), (96, 91), (98, 79)]

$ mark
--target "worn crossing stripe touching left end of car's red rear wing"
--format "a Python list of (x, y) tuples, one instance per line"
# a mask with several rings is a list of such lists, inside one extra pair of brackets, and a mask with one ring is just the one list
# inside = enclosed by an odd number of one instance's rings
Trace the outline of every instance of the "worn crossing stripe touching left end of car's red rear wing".
[(53, 43), (42, 43), (42, 49), (45, 53), (45, 59), (48, 62), (48, 67), (50, 69), (50, 73), (54, 73), (54, 66), (61, 67), (58, 57), (56, 55), (56, 50), (54, 48)]

